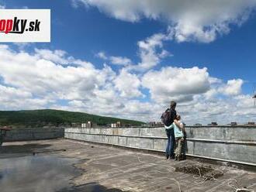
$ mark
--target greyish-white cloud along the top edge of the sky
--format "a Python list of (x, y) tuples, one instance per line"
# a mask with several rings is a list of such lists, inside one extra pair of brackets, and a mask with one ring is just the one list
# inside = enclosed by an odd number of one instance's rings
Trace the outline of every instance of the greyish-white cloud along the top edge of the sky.
[(255, 9), (255, 0), (72, 0), (95, 6), (115, 19), (137, 22), (142, 18), (168, 22), (178, 42), (209, 43), (216, 36), (230, 32), (230, 25), (240, 26)]

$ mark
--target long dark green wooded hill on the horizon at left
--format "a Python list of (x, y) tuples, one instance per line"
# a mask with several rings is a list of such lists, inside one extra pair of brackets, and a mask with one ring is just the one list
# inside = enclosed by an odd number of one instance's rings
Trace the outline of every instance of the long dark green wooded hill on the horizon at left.
[(95, 122), (98, 125), (107, 125), (113, 122), (121, 122), (129, 125), (141, 125), (128, 119), (104, 117), (81, 112), (60, 111), (52, 109), (28, 110), (28, 111), (0, 111), (0, 125), (21, 125), (42, 127), (44, 125), (71, 125), (71, 123)]

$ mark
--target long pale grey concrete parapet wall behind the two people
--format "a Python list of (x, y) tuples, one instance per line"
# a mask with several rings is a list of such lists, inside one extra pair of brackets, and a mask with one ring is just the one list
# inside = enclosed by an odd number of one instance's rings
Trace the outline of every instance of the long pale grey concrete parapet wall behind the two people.
[[(188, 155), (256, 166), (256, 127), (186, 127)], [(69, 128), (65, 138), (164, 152), (167, 138), (158, 128)]]

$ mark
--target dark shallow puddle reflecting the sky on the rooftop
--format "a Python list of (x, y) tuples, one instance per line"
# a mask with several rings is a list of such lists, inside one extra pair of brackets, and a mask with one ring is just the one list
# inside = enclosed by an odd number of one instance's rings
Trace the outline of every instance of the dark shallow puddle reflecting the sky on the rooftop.
[(72, 179), (81, 175), (77, 159), (57, 156), (22, 156), (0, 159), (1, 192), (121, 192), (99, 183), (74, 186)]

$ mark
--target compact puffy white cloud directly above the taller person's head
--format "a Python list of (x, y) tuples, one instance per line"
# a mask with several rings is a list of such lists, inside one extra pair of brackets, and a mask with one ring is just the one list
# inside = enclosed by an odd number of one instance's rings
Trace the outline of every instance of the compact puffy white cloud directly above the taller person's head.
[(209, 74), (206, 68), (163, 67), (147, 72), (142, 84), (149, 88), (154, 101), (191, 101), (193, 95), (209, 90)]

